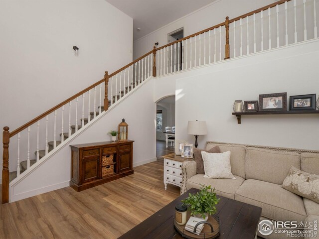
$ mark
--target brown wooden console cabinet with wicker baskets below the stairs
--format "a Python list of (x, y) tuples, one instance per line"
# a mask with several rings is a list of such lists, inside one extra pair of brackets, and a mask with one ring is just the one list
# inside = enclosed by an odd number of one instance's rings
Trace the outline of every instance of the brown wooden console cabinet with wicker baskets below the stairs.
[[(70, 145), (70, 186), (77, 192), (134, 173), (133, 140)], [(106, 158), (113, 158), (106, 162)]]

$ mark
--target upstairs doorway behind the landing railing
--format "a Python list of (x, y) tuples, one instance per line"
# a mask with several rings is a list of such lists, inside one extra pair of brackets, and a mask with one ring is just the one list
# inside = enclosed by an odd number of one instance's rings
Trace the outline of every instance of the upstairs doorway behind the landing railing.
[[(167, 35), (167, 43), (177, 41), (184, 37), (184, 29), (179, 28)], [(182, 69), (183, 46), (182, 42), (171, 45), (168, 49), (168, 72), (176, 72)]]

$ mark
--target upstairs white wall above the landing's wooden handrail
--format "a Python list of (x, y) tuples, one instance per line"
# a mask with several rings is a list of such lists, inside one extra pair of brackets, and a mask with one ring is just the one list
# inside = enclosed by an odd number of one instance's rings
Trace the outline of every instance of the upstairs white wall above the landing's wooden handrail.
[(225, 21), (226, 16), (229, 16), (229, 19), (231, 19), (273, 2), (274, 0), (216, 0), (135, 40), (133, 44), (133, 58), (137, 59), (152, 50), (155, 42), (159, 42), (159, 47), (167, 44), (167, 34), (174, 30), (183, 27), (185, 37)]

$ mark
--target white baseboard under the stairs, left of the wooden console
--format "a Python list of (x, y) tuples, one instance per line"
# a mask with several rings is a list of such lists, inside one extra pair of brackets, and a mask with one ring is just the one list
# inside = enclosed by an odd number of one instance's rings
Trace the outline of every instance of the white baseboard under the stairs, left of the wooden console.
[(61, 183), (56, 183), (56, 184), (52, 184), (49, 186), (45, 186), (42, 188), (37, 188), (37, 189), (33, 189), (27, 192), (22, 192), (22, 193), (18, 193), (18, 194), (14, 194), (14, 187), (10, 187), (10, 203), (21, 200), (21, 199), (25, 199), (25, 198), (29, 198), (29, 197), (33, 197), (42, 193), (47, 193), (47, 192), (51, 192), (60, 188), (65, 188), (68, 187), (70, 184), (70, 181), (65, 181), (65, 182), (61, 182)]

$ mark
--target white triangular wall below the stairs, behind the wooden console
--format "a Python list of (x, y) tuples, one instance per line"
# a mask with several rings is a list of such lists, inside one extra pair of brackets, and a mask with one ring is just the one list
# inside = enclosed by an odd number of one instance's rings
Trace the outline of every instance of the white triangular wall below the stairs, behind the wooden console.
[[(133, 167), (156, 160), (156, 103), (153, 101), (154, 79), (144, 82), (127, 99), (96, 118), (96, 122), (68, 142), (55, 155), (11, 188), (11, 201), (66, 187), (70, 181), (69, 145), (110, 141), (107, 134), (118, 128), (124, 118), (129, 124), (128, 137), (133, 143)], [(139, 102), (139, 104), (136, 104)], [(137, 114), (138, 112), (138, 114)]]

